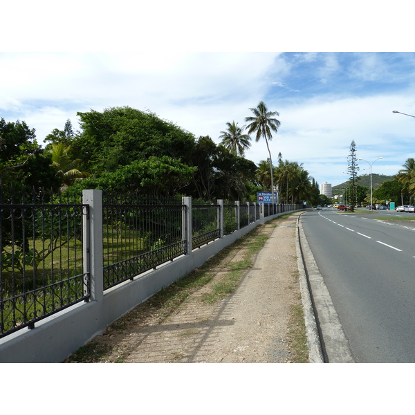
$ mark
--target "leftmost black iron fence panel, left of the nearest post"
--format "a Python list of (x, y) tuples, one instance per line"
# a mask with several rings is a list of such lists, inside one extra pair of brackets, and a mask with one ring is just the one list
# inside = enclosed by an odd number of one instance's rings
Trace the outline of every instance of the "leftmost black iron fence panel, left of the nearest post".
[(0, 338), (89, 298), (82, 222), (87, 205), (0, 188)]

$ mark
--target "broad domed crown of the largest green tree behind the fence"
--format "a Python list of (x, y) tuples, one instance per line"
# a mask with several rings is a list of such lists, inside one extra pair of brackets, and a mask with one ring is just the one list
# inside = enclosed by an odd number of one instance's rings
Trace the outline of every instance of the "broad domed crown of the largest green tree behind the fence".
[(194, 136), (154, 113), (131, 107), (105, 109), (102, 113), (77, 113), (81, 132), (73, 150), (91, 174), (114, 172), (134, 160), (169, 156), (183, 163), (195, 145)]

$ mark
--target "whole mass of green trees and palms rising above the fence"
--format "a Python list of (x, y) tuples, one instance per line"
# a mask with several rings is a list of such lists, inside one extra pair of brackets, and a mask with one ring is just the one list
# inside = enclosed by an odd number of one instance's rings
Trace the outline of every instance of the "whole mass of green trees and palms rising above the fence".
[[(268, 141), (277, 133), (279, 114), (264, 102), (249, 110), (248, 125), (226, 123), (219, 145), (209, 136), (196, 138), (154, 113), (131, 107), (77, 113), (80, 131), (75, 133), (66, 120), (62, 130), (46, 136), (45, 149), (24, 122), (2, 119), (0, 183), (30, 178), (28, 184), (53, 187), (55, 192), (95, 188), (155, 199), (185, 194), (246, 201), (257, 201), (257, 192), (274, 188), (281, 203), (316, 199), (313, 178), (301, 164), (282, 160), (281, 154), (278, 166), (272, 163)], [(252, 133), (256, 141), (265, 140), (268, 149), (269, 157), (259, 165), (245, 158)]]

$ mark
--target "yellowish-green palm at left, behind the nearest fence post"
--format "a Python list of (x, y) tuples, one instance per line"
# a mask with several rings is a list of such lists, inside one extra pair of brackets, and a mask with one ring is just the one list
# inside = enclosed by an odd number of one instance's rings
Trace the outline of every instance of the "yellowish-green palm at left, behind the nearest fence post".
[(63, 142), (56, 142), (50, 146), (50, 154), (52, 155), (52, 164), (57, 168), (57, 174), (62, 180), (62, 186), (59, 191), (67, 189), (76, 180), (89, 177), (88, 172), (80, 171), (80, 159), (71, 160), (69, 151), (71, 147), (65, 145)]

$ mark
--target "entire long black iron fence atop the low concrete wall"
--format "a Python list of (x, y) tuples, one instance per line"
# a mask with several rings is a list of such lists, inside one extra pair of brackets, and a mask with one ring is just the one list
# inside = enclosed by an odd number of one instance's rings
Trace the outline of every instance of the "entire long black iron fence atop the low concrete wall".
[[(95, 299), (95, 287), (105, 291), (134, 279), (258, 221), (261, 214), (303, 208), (100, 193), (102, 219), (93, 223), (95, 203), (89, 197), (95, 191), (85, 192), (88, 203), (82, 203), (84, 194), (46, 197), (42, 191), (17, 197), (0, 188), (0, 338)], [(91, 234), (102, 239), (93, 260)], [(98, 268), (102, 284), (96, 284)]]

